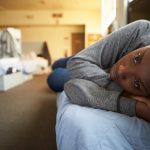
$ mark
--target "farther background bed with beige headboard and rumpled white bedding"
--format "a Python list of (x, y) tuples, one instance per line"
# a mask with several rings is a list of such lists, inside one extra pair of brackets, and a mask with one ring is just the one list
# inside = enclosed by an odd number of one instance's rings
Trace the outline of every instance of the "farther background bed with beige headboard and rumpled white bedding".
[(34, 74), (46, 69), (51, 64), (50, 50), (46, 42), (23, 42), (22, 55), (24, 68), (28, 69), (28, 66), (32, 63), (36, 69)]

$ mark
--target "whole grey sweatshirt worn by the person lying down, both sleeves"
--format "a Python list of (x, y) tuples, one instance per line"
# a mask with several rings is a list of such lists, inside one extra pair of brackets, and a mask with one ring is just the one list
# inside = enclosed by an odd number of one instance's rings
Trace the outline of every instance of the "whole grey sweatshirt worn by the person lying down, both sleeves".
[(65, 93), (74, 104), (135, 116), (135, 100), (124, 97), (123, 89), (110, 79), (110, 68), (121, 57), (150, 45), (150, 22), (138, 20), (109, 34), (72, 57), (67, 68), (74, 78)]

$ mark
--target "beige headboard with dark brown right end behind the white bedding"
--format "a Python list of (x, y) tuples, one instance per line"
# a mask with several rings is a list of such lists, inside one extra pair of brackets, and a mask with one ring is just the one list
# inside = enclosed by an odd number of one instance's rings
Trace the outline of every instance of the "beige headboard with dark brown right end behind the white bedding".
[(22, 52), (29, 53), (34, 51), (37, 56), (44, 57), (51, 64), (50, 50), (46, 42), (22, 42)]

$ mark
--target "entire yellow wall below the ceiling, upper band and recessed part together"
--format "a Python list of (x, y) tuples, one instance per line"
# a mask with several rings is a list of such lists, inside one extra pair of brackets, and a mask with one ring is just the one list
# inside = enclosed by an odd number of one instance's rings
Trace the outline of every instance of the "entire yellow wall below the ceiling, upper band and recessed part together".
[[(62, 13), (55, 19), (53, 13)], [(22, 29), (23, 41), (48, 41), (52, 59), (70, 54), (70, 43), (65, 46), (64, 38), (71, 32), (85, 32), (85, 46), (88, 34), (100, 34), (99, 11), (0, 11), (0, 26), (12, 26)], [(66, 29), (64, 26), (73, 28)], [(76, 26), (76, 27), (75, 27)], [(61, 30), (61, 31), (60, 31)], [(61, 33), (59, 33), (61, 32)], [(61, 35), (61, 36), (60, 36)], [(54, 42), (54, 39), (57, 39)], [(70, 38), (69, 38), (70, 40)], [(68, 40), (68, 41), (69, 41)]]

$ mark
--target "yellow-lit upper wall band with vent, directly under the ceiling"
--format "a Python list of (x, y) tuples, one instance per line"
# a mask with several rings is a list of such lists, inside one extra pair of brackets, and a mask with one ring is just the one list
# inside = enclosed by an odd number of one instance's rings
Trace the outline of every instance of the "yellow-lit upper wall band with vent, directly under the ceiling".
[(100, 33), (99, 11), (0, 11), (0, 25), (56, 25), (53, 13), (62, 13), (61, 25), (85, 25), (86, 33)]

